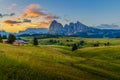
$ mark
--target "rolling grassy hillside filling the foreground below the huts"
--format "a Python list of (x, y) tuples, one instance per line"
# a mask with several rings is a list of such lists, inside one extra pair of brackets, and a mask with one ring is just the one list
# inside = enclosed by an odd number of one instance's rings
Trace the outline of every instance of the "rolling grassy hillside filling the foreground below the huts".
[(120, 46), (0, 44), (0, 80), (120, 80)]

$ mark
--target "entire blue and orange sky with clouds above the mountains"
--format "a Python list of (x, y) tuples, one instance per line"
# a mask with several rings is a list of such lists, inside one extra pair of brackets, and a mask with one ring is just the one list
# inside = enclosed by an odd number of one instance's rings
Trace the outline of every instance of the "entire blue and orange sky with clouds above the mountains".
[(90, 26), (120, 26), (120, 0), (0, 0), (0, 29), (18, 32), (80, 21)]

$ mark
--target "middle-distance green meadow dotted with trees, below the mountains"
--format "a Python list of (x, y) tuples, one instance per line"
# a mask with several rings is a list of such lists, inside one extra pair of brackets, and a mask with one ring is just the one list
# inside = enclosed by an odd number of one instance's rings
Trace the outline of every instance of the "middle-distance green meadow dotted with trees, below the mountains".
[[(32, 43), (33, 41), (32, 37), (22, 37), (22, 39), (28, 40), (29, 43)], [(50, 40), (52, 40), (53, 42), (50, 42)], [(100, 43), (100, 46), (104, 46), (104, 44), (107, 42), (110, 42), (111, 46), (120, 45), (120, 38), (80, 38), (80, 37), (58, 37), (39, 39), (39, 44), (69, 46), (74, 43), (78, 44), (80, 43), (80, 41), (85, 42), (83, 47), (93, 47), (93, 45), (97, 42)]]

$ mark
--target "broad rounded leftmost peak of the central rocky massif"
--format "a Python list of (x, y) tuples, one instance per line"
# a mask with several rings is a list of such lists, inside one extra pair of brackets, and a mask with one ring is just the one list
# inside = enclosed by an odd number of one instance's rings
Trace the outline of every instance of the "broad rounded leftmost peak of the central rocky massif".
[(49, 33), (55, 35), (63, 35), (64, 34), (63, 25), (54, 20), (50, 25)]

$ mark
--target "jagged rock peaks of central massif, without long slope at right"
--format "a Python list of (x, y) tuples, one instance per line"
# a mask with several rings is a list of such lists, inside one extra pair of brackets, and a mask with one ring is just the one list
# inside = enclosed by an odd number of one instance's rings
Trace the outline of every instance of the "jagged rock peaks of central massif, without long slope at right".
[(89, 32), (94, 30), (95, 29), (92, 27), (88, 27), (79, 21), (76, 23), (70, 23), (69, 25), (66, 24), (64, 27), (57, 21), (53, 21), (50, 25), (49, 33), (57, 35), (75, 35), (81, 32)]

